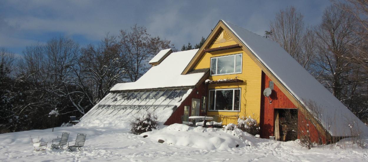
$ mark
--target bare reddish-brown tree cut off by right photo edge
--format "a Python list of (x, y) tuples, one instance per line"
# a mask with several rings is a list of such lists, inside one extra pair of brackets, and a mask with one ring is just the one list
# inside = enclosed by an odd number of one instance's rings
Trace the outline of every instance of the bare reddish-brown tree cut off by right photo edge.
[(352, 37), (357, 37), (358, 42), (346, 42), (350, 49), (348, 54), (340, 57), (350, 61), (355, 70), (355, 80), (352, 89), (354, 95), (344, 101), (344, 104), (361, 120), (368, 121), (368, 1), (367, 0), (345, 0), (345, 2), (331, 0), (333, 5), (349, 15), (350, 25), (345, 27)]

